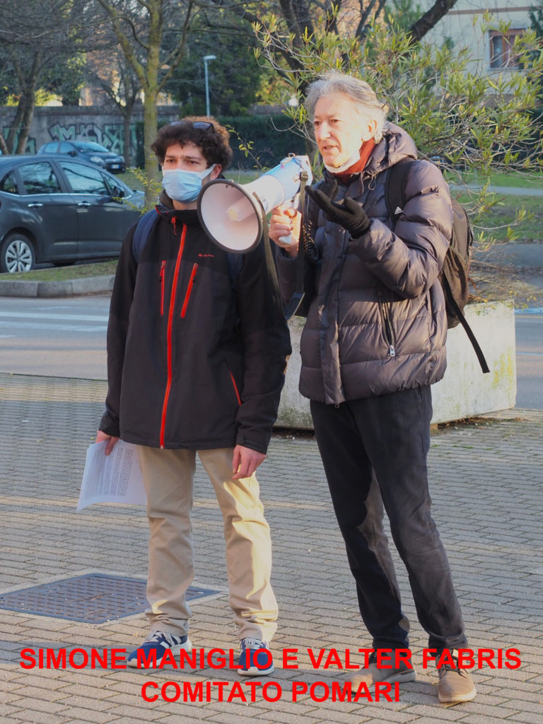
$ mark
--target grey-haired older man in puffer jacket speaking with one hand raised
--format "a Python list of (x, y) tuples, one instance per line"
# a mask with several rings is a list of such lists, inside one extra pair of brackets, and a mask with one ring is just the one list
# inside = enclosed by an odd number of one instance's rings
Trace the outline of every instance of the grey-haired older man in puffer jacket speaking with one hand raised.
[[(438, 281), (452, 210), (439, 169), (386, 121), (386, 106), (355, 77), (333, 72), (306, 98), (324, 179), (303, 212), (274, 209), (270, 236), (285, 299), (295, 288), (298, 240), (307, 264), (300, 392), (311, 414), (337, 521), (374, 654), (358, 676), (414, 681), (387, 537), (407, 568), (416, 612), (439, 671), (439, 701), (476, 694), (458, 665), (467, 647), (449, 563), (431, 513), (427, 455), (430, 385), (445, 372), (447, 319)], [(387, 209), (390, 169), (411, 161), (403, 209)], [(394, 218), (392, 218), (394, 216)], [(284, 239), (292, 233), (293, 243)], [(404, 649), (404, 651), (402, 651)]]

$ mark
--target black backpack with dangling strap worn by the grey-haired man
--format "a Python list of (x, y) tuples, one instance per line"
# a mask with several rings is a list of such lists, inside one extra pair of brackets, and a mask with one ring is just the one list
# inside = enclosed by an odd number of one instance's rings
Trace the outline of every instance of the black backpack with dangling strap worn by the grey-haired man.
[[(397, 221), (403, 206), (405, 206), (405, 184), (411, 164), (414, 159), (400, 161), (389, 171), (385, 199), (390, 218)], [(445, 293), (445, 310), (447, 311), (447, 327), (452, 329), (461, 324), (466, 330), (471, 345), (477, 355), (481, 370), (489, 372), (489, 366), (484, 358), (483, 350), (479, 346), (471, 327), (463, 314), (469, 295), (468, 271), (473, 245), (473, 232), (466, 211), (455, 198), (451, 198), (452, 206), (452, 234), (447, 255), (443, 262), (443, 269), (439, 272), (439, 282)]]

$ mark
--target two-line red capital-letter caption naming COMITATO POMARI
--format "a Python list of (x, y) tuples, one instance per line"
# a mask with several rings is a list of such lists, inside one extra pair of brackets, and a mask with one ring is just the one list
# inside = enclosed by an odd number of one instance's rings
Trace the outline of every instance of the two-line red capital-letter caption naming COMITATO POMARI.
[[(460, 668), (518, 669), (521, 654), (518, 649), (457, 649)], [(125, 669), (127, 649), (22, 649), (20, 667), (23, 669)], [(366, 668), (374, 649), (282, 649), (275, 654), (275, 663), (285, 670), (337, 670), (353, 672)], [(138, 666), (146, 669), (164, 670), (235, 670), (240, 668), (234, 649), (193, 649), (174, 656), (168, 650), (157, 664), (156, 652), (146, 657), (138, 651)], [(375, 663), (386, 672), (400, 663), (413, 668), (411, 652), (408, 649), (378, 649)], [(258, 662), (254, 662), (258, 666)], [(262, 668), (268, 667), (265, 662)], [(419, 658), (417, 656), (417, 665)], [(445, 650), (439, 656), (435, 649), (423, 649), (420, 665), (429, 667), (455, 666), (450, 652)], [(369, 688), (366, 683), (354, 681), (146, 681), (141, 687), (145, 702), (237, 702), (249, 703), (257, 699), (277, 702), (287, 699), (298, 702), (309, 697), (314, 702), (397, 702), (400, 697), (399, 684), (377, 682)]]

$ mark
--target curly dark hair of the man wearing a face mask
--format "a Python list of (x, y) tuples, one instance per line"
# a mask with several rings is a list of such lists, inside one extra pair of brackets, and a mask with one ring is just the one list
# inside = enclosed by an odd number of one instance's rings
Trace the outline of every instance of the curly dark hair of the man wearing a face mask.
[[(211, 123), (209, 128), (195, 128), (194, 123)], [(151, 144), (160, 163), (164, 163), (164, 157), (169, 146), (179, 143), (194, 143), (201, 148), (203, 157), (208, 166), (221, 164), (226, 169), (232, 162), (232, 148), (230, 148), (230, 133), (216, 119), (211, 116), (186, 116), (180, 121), (174, 121), (162, 126)]]

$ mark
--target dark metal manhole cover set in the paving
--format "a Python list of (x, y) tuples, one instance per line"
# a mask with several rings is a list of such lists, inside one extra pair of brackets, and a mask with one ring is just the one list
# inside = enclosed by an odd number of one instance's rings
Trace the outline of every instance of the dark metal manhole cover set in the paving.
[[(190, 586), (187, 599), (216, 593), (219, 592)], [(83, 623), (105, 623), (143, 613), (147, 607), (146, 581), (105, 573), (88, 573), (0, 594), (2, 609)]]

